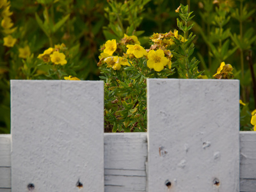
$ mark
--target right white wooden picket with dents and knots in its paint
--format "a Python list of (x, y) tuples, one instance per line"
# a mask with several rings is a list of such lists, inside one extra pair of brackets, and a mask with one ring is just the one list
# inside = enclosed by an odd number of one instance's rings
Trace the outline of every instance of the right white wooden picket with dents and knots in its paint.
[(238, 192), (239, 81), (147, 79), (147, 91), (148, 192)]

